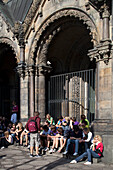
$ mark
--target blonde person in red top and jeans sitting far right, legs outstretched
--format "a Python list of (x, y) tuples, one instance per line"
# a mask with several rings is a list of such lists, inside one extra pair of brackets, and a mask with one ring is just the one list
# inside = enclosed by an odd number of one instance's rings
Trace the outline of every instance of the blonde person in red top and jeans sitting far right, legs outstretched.
[(77, 163), (84, 157), (88, 157), (88, 161), (85, 162), (85, 165), (91, 165), (91, 157), (93, 158), (100, 158), (103, 155), (103, 144), (102, 138), (99, 135), (96, 135), (93, 140), (93, 144), (91, 145), (90, 149), (87, 149), (82, 155), (77, 157), (75, 160), (72, 160), (70, 163)]

